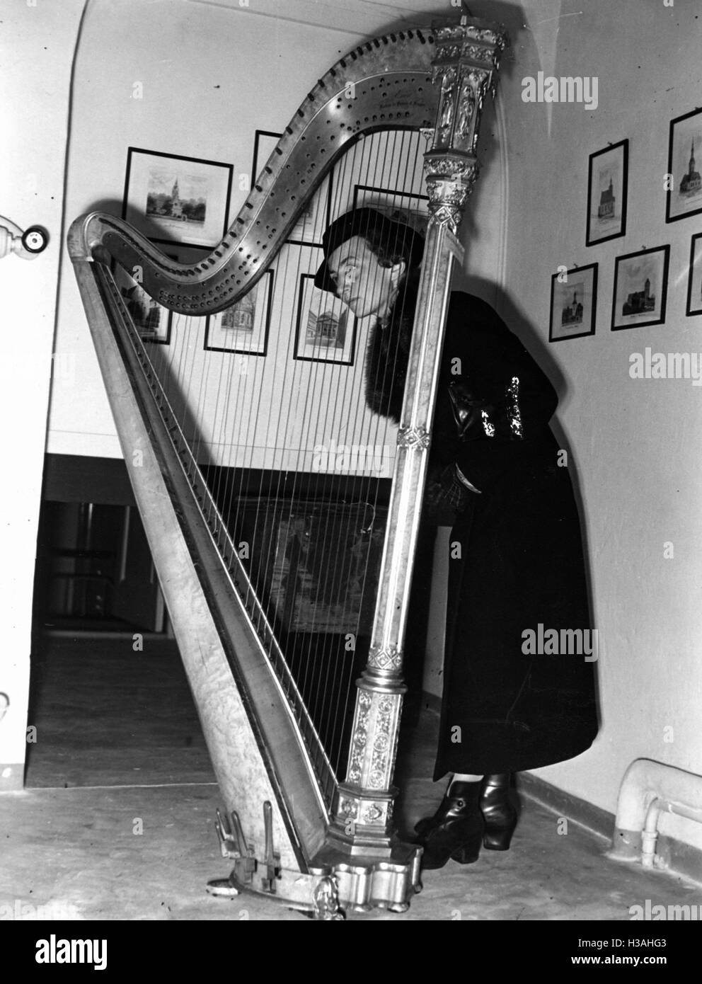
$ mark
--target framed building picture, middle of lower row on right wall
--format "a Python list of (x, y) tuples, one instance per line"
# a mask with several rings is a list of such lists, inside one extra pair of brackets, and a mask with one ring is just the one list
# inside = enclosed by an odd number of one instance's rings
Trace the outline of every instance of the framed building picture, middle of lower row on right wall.
[(617, 256), (612, 301), (613, 332), (665, 322), (670, 255), (670, 246), (658, 246)]

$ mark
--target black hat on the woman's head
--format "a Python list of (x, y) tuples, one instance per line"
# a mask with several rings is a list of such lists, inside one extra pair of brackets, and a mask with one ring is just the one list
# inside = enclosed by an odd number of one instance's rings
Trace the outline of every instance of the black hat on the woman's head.
[(336, 293), (336, 283), (329, 274), (326, 260), (335, 249), (352, 236), (373, 238), (376, 242), (380, 241), (388, 253), (395, 256), (402, 254), (408, 270), (418, 267), (422, 262), (424, 237), (411, 225), (386, 218), (376, 209), (354, 209), (335, 218), (322, 236), (324, 262), (315, 275), (315, 286), (320, 290)]

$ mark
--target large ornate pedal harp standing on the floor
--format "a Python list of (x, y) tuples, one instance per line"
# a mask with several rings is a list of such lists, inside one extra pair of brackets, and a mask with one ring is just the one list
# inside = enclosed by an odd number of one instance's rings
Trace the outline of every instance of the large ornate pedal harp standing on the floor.
[[(456, 233), (503, 46), (499, 31), (464, 15), (351, 51), (306, 97), (200, 262), (174, 262), (111, 215), (71, 227), (98, 362), (225, 804), (217, 830), (234, 867), (215, 892), (265, 892), (333, 917), (338, 906), (401, 911), (419, 888), (419, 850), (392, 823), (403, 633), (450, 271), (462, 257)], [(308, 304), (321, 251), (305, 229), (324, 207), (333, 218), (354, 205), (425, 201), (395, 434), (364, 408), (362, 330), (348, 319), (342, 330), (340, 317)], [(170, 345), (155, 343), (153, 314), (172, 322)], [(238, 341), (207, 345), (217, 332)], [(372, 447), (391, 483), (367, 461), (341, 482), (328, 461), (316, 467), (311, 455), (322, 436), (328, 458), (330, 430), (344, 436), (342, 455)], [(378, 452), (388, 435), (389, 456)]]

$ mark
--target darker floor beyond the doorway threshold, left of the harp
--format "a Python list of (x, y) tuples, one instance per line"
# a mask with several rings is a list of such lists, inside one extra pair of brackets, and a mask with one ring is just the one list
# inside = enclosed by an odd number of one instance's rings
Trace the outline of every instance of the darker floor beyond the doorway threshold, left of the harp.
[(173, 641), (47, 638), (32, 662), (26, 785), (214, 782)]

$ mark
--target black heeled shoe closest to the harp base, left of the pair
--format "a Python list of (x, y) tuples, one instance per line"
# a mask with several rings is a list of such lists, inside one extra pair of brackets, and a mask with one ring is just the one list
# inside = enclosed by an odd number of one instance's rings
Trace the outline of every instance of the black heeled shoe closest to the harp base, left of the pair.
[(484, 830), (481, 789), (480, 781), (452, 782), (434, 817), (417, 824), (423, 868), (442, 868), (449, 858), (459, 864), (478, 860)]

